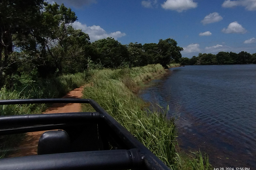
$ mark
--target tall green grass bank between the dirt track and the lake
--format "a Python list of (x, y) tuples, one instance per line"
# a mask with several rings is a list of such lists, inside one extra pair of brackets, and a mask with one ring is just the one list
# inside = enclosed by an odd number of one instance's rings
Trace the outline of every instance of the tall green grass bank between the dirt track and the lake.
[[(174, 119), (167, 120), (163, 112), (145, 111), (145, 102), (135, 96), (131, 89), (143, 81), (164, 72), (160, 64), (120, 70), (98, 70), (93, 73), (92, 85), (85, 87), (83, 98), (98, 102), (122, 126), (157, 155), (171, 169), (208, 169), (202, 155), (193, 159), (177, 153)], [(87, 105), (83, 111), (91, 110)]]

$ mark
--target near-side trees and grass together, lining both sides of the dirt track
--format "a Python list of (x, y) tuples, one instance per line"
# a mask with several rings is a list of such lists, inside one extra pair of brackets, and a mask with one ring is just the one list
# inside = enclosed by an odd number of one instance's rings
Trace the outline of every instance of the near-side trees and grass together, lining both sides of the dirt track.
[[(0, 11), (0, 100), (59, 98), (90, 82), (84, 97), (96, 100), (170, 168), (199, 170), (192, 168), (195, 164), (202, 169), (200, 155), (185, 161), (177, 153), (174, 119), (165, 117), (168, 110), (147, 114), (146, 103), (132, 93), (164, 68), (178, 66), (174, 63), (181, 61), (183, 48), (175, 40), (143, 45), (113, 38), (90, 42), (88, 34), (72, 27), (75, 12), (44, 0), (4, 0)], [(0, 115), (41, 113), (46, 107), (4, 105)], [(23, 138), (0, 136), (0, 157)]]

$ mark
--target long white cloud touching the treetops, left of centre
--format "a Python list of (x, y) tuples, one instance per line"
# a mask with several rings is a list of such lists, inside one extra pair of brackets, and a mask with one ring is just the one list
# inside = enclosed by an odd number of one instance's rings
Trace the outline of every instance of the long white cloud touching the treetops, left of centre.
[(73, 23), (73, 27), (75, 29), (82, 30), (84, 33), (89, 34), (91, 42), (94, 42), (99, 39), (104, 39), (107, 37), (112, 37), (112, 38), (117, 39), (117, 38), (120, 38), (120, 37), (123, 37), (126, 35), (125, 33), (121, 33), (120, 31), (116, 31), (116, 32), (107, 34), (107, 32), (104, 29), (102, 29), (100, 26), (93, 25), (93, 26), (87, 27), (86, 24), (82, 24), (78, 21), (75, 21)]

